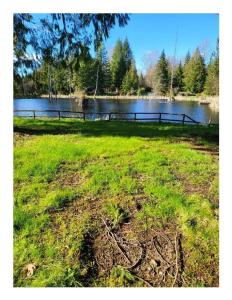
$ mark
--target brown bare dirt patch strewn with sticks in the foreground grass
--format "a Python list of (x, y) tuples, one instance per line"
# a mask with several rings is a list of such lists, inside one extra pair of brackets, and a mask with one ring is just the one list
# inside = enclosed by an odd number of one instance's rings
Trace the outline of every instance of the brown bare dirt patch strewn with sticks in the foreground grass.
[[(108, 225), (107, 225), (108, 226)], [(99, 271), (108, 276), (114, 266), (121, 266), (135, 276), (144, 286), (168, 287), (182, 285), (183, 251), (181, 235), (149, 230), (139, 232), (137, 239), (130, 235), (135, 228), (123, 225), (116, 232), (105, 226), (94, 243)]]

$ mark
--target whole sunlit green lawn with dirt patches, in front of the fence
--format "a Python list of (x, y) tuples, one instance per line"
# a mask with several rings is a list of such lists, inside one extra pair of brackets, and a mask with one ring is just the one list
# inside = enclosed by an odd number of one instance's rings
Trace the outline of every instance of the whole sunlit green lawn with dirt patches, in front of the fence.
[(14, 119), (14, 286), (218, 286), (218, 128)]

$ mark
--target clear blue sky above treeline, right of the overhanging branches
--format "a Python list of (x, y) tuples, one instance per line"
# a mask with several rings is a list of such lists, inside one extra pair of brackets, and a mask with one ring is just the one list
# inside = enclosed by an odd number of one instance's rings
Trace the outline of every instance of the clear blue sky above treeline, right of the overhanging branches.
[(106, 41), (106, 49), (112, 49), (118, 38), (129, 40), (137, 68), (144, 70), (143, 57), (147, 52), (157, 55), (164, 49), (173, 56), (177, 36), (176, 58), (182, 59), (187, 51), (197, 46), (210, 54), (219, 37), (218, 14), (131, 14), (127, 26), (114, 27)]

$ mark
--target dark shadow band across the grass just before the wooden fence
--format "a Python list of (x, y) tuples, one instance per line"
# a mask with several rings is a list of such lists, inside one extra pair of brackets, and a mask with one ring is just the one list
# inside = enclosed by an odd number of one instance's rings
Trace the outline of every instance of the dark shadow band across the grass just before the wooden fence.
[(218, 126), (159, 124), (125, 121), (80, 121), (74, 119), (14, 118), (14, 132), (32, 135), (82, 134), (85, 136), (121, 136), (146, 138), (194, 138), (218, 145)]

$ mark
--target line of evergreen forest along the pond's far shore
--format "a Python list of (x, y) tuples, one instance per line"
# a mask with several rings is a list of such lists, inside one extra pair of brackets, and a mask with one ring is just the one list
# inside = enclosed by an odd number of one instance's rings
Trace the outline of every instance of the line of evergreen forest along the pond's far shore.
[[(122, 23), (124, 26), (127, 16), (120, 17), (121, 21), (124, 20)], [(63, 24), (72, 22), (72, 19), (64, 21), (62, 18), (60, 16), (59, 25), (61, 20)], [(64, 25), (61, 29), (65, 29)], [(21, 32), (22, 28), (18, 29), (15, 26), (15, 30)], [(65, 31), (64, 33), (67, 34), (67, 29)], [(62, 46), (61, 42), (62, 40), (58, 41), (59, 47)], [(21, 66), (16, 64), (14, 96), (27, 97), (44, 94), (56, 96), (58, 94), (71, 95), (76, 92), (88, 95), (143, 95), (148, 92), (164, 96), (181, 93), (219, 94), (218, 41), (207, 64), (199, 48), (196, 48), (192, 54), (188, 52), (185, 59), (180, 62), (167, 58), (163, 50), (159, 59), (150, 63), (145, 74), (137, 71), (128, 39), (118, 40), (110, 56), (104, 47), (103, 38), (96, 43), (93, 56), (89, 48), (83, 45), (81, 54), (75, 51), (68, 52), (67, 47), (71, 46), (67, 42), (66, 48), (64, 47), (67, 53), (60, 55), (60, 51), (53, 51), (54, 46), (47, 45), (42, 55), (35, 60), (34, 65), (30, 63), (25, 67), (24, 64), (23, 68), (23, 64)]]

